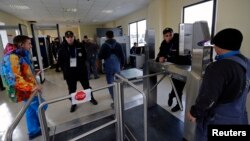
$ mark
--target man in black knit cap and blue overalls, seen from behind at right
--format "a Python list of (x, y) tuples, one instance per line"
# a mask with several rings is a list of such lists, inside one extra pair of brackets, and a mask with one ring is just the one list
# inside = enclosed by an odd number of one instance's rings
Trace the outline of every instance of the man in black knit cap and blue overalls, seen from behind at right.
[(239, 50), (243, 36), (227, 28), (212, 40), (216, 62), (207, 68), (188, 119), (196, 122), (196, 140), (206, 141), (209, 124), (248, 124), (246, 99), (249, 92), (250, 63)]

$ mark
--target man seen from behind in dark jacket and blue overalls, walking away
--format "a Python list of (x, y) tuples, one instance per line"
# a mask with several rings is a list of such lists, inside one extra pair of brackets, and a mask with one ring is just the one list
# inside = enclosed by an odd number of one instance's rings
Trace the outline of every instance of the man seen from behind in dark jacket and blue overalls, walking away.
[[(106, 73), (106, 80), (108, 84), (114, 82), (114, 74), (120, 73), (124, 66), (124, 53), (120, 43), (116, 42), (113, 31), (106, 32), (106, 38), (104, 44), (102, 44), (99, 52), (99, 59), (104, 59), (104, 71)], [(114, 99), (113, 88), (109, 87), (109, 93), (111, 98)], [(111, 104), (111, 107), (113, 104)]]

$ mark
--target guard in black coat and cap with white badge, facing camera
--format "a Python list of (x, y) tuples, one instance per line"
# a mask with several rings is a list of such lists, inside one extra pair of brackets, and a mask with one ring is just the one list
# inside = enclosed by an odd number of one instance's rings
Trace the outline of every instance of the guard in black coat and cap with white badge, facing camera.
[[(84, 89), (91, 88), (88, 80), (86, 67), (86, 50), (82, 43), (74, 39), (72, 31), (65, 32), (65, 41), (61, 44), (58, 52), (58, 64), (63, 71), (63, 77), (67, 82), (69, 94), (76, 91), (77, 81), (80, 81)], [(97, 105), (91, 93), (90, 102)], [(76, 110), (76, 105), (72, 105), (70, 112)]]

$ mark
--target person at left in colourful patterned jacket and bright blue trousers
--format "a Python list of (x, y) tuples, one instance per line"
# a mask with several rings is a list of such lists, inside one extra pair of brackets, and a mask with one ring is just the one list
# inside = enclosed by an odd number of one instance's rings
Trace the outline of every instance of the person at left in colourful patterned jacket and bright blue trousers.
[[(18, 35), (13, 39), (14, 44), (7, 44), (2, 61), (2, 76), (8, 87), (9, 98), (14, 102), (26, 101), (41, 86), (36, 83), (35, 72), (30, 60), (29, 50), (31, 40), (28, 36)], [(26, 122), (29, 139), (41, 135), (38, 119), (39, 101), (36, 96), (26, 110)]]

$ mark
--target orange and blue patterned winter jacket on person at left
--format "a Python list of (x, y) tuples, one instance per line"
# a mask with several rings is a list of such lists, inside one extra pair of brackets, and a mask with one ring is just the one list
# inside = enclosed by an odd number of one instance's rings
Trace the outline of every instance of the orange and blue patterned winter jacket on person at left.
[(1, 75), (13, 102), (29, 99), (36, 79), (29, 58), (29, 51), (7, 44), (1, 61)]

